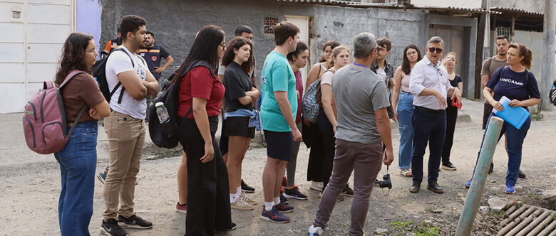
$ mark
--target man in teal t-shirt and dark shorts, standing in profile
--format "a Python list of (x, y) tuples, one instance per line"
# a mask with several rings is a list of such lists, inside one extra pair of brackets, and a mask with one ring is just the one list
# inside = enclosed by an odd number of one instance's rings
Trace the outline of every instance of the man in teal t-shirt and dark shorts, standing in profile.
[(274, 26), (276, 48), (264, 60), (262, 70), (261, 122), (267, 141), (267, 163), (262, 173), (264, 208), (261, 218), (286, 223), (291, 219), (282, 213), (291, 213), (294, 207), (280, 200), (280, 183), (292, 155), (293, 141), (302, 141), (295, 124), (297, 91), (295, 76), (286, 55), (293, 52), (299, 42), (299, 28), (282, 21)]

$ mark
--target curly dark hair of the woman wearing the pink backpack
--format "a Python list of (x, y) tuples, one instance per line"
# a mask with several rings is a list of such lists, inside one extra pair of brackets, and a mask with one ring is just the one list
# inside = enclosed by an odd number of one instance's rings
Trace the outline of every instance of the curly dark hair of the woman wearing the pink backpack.
[(72, 70), (83, 70), (91, 73), (91, 66), (85, 62), (85, 50), (93, 36), (86, 33), (71, 33), (63, 43), (60, 57), (60, 68), (56, 72), (56, 85), (61, 85)]

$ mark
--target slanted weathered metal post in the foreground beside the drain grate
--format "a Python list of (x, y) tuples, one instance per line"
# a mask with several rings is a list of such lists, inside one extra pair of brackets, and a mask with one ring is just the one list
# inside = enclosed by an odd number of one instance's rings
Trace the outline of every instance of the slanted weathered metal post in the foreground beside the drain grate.
[(473, 181), (471, 181), (467, 198), (465, 198), (465, 205), (463, 205), (463, 211), (460, 215), (455, 236), (471, 235), (473, 221), (475, 221), (475, 215), (477, 215), (479, 209), (480, 197), (485, 190), (488, 168), (490, 168), (490, 163), (493, 162), (494, 149), (496, 148), (496, 144), (498, 144), (498, 137), (500, 137), (502, 124), (504, 124), (503, 119), (499, 117), (490, 117), (485, 140), (483, 141), (483, 147), (480, 149), (479, 160), (475, 166)]

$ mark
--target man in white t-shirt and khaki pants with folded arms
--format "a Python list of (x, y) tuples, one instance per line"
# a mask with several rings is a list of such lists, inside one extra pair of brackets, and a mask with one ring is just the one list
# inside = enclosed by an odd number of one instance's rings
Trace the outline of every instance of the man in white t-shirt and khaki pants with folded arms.
[[(113, 92), (110, 117), (104, 119), (110, 149), (110, 168), (104, 185), (101, 232), (106, 235), (127, 235), (123, 227), (150, 228), (153, 223), (135, 215), (135, 179), (147, 127), (144, 119), (146, 97), (156, 95), (158, 82), (143, 58), (136, 54), (145, 41), (147, 22), (128, 15), (120, 22), (123, 50), (115, 50), (106, 62), (106, 80)], [(119, 223), (119, 225), (118, 225)]]

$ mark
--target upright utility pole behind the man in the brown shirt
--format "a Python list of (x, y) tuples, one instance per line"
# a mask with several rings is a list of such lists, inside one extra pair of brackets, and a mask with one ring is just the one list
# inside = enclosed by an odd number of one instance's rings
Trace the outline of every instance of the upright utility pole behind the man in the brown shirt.
[[(490, 11), (487, 9), (488, 0), (482, 0), (481, 9)], [(477, 43), (475, 44), (475, 98), (480, 98), (481, 87), (480, 87), (480, 70), (483, 67), (483, 46), (485, 44), (485, 28), (486, 28), (486, 14), (485, 12), (480, 14), (479, 26), (477, 29)], [(488, 26), (490, 29), (490, 26)]]

